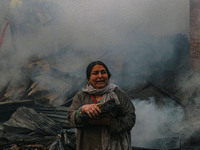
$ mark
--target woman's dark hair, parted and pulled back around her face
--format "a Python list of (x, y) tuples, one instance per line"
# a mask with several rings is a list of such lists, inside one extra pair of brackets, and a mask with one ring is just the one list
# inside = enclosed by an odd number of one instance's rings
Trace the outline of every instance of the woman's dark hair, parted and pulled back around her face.
[(106, 72), (108, 73), (108, 79), (110, 79), (111, 73), (110, 73), (110, 71), (108, 70), (108, 67), (107, 67), (103, 62), (101, 62), (101, 61), (93, 61), (93, 62), (91, 62), (91, 63), (87, 66), (87, 69), (86, 69), (87, 80), (90, 79), (90, 75), (91, 75), (92, 68), (93, 68), (95, 65), (102, 65), (102, 66), (106, 69)]

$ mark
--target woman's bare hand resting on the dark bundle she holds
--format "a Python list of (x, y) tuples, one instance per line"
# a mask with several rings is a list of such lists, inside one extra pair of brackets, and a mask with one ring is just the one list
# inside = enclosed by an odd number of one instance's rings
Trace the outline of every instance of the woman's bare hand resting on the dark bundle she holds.
[(83, 105), (81, 108), (81, 113), (86, 113), (90, 118), (96, 118), (99, 113), (101, 113), (101, 110), (99, 109), (98, 105), (99, 104), (87, 104)]

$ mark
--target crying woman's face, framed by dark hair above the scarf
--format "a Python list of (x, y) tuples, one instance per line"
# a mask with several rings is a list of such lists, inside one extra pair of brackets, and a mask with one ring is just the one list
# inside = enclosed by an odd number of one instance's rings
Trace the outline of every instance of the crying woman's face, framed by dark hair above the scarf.
[(95, 65), (90, 74), (90, 83), (95, 89), (101, 89), (108, 83), (108, 73), (104, 66)]

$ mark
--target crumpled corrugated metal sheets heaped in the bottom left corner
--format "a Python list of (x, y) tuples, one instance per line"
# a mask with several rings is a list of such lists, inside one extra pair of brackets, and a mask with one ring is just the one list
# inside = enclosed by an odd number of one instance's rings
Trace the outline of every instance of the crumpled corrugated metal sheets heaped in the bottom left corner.
[[(67, 124), (67, 122), (66, 122)], [(75, 149), (75, 131), (64, 129), (32, 108), (20, 107), (10, 120), (4, 123), (0, 149), (10, 147), (21, 149)]]

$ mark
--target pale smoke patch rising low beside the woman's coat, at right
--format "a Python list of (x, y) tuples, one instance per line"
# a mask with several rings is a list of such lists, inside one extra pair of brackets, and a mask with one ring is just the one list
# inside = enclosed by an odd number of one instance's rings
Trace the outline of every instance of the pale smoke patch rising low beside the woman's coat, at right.
[(136, 124), (131, 131), (132, 145), (150, 148), (155, 139), (182, 138), (178, 131), (184, 123), (184, 110), (175, 105), (173, 100), (165, 101), (165, 105), (158, 106), (154, 98), (149, 98), (148, 101), (133, 100)]

